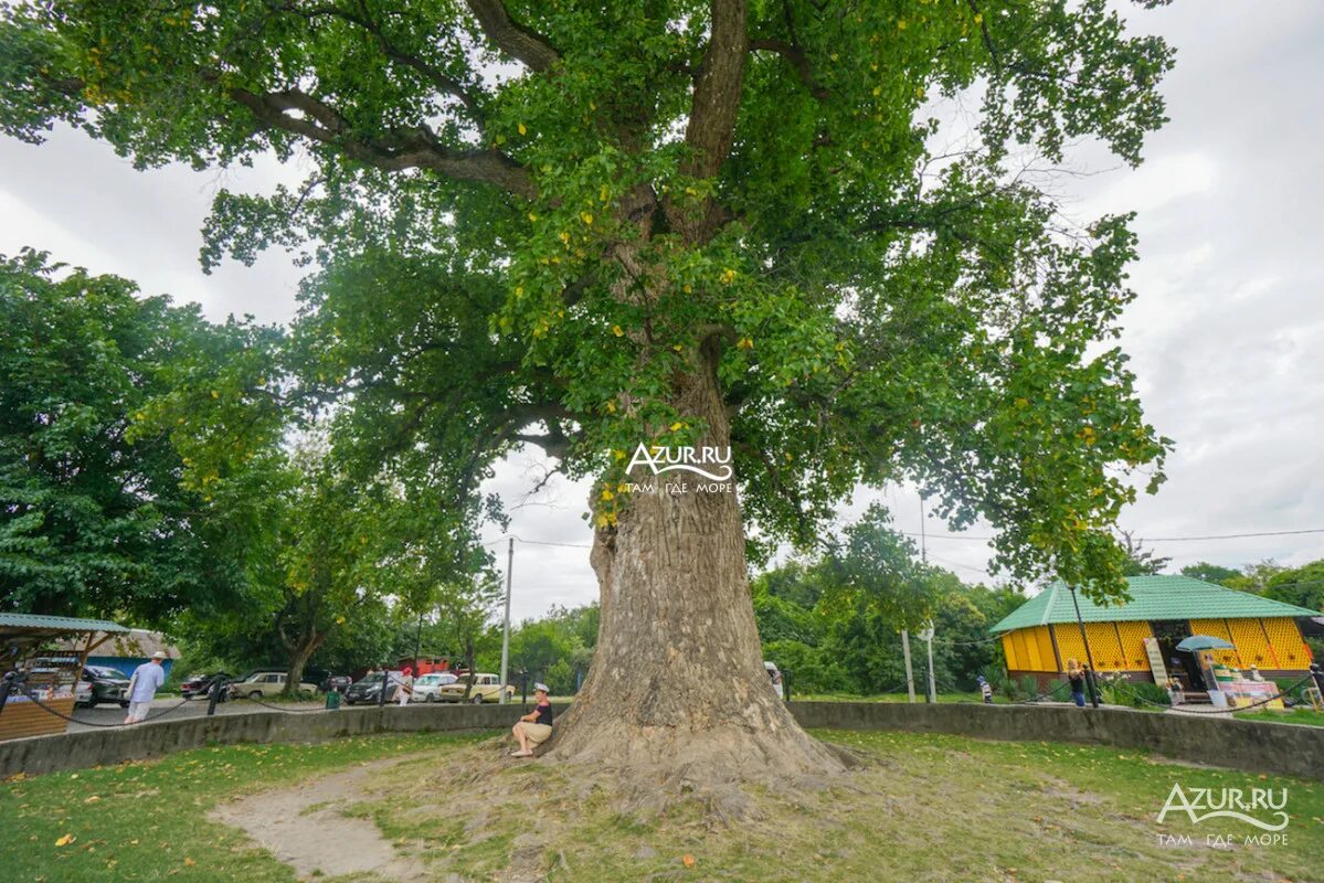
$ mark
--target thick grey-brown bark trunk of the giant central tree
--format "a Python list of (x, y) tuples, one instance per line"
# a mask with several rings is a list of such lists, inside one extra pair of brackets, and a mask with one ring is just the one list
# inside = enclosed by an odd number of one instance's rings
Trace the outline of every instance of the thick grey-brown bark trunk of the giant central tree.
[[(708, 425), (702, 445), (727, 446), (714, 372), (683, 379), (674, 404)], [(822, 776), (839, 757), (808, 736), (773, 692), (763, 665), (733, 490), (703, 491), (685, 471), (638, 469), (614, 530), (592, 552), (601, 626), (588, 680), (556, 721), (549, 756), (629, 768), (655, 789), (744, 778)], [(667, 492), (687, 482), (688, 492)], [(655, 774), (651, 774), (655, 773)]]

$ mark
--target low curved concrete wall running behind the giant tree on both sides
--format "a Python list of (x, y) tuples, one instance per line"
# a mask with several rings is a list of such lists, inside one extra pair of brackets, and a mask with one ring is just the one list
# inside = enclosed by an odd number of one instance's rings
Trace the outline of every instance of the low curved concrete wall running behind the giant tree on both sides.
[[(564, 707), (557, 707), (557, 712)], [(1062, 706), (792, 702), (805, 727), (904, 729), (977, 739), (1070, 741), (1148, 749), (1177, 760), (1324, 780), (1324, 727)], [(504, 729), (519, 706), (368, 707), (148, 721), (136, 727), (0, 743), (0, 777), (143, 760), (203, 745), (323, 741), (381, 732)]]

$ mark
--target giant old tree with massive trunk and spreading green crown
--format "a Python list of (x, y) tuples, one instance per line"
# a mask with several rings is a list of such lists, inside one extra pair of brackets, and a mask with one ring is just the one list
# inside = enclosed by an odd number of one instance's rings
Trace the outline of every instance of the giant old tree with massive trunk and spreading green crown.
[[(1164, 120), (1170, 52), (1110, 7), (52, 0), (4, 13), (0, 126), (301, 154), (305, 185), (220, 196), (204, 259), (310, 244), (306, 375), (357, 450), (457, 499), (520, 443), (598, 479), (552, 755), (793, 776), (837, 761), (769, 688), (747, 528), (808, 544), (908, 478), (1001, 564), (1121, 585), (1108, 526), (1166, 449), (1111, 343), (1135, 238), (1049, 193), (1068, 140), (1137, 163)], [(639, 443), (732, 449), (739, 494), (628, 477)]]

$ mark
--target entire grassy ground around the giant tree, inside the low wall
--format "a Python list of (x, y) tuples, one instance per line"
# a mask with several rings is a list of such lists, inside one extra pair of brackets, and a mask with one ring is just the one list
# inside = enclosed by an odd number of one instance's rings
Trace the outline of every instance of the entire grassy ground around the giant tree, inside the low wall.
[[(707, 822), (695, 802), (620, 815), (573, 769), (506, 760), (482, 736), (379, 736), (323, 745), (204, 748), (159, 763), (0, 786), (9, 880), (294, 880), (229, 827), (218, 801), (404, 756), (335, 810), (371, 819), (429, 879), (622, 880), (1319, 880), (1324, 782), (1160, 763), (1137, 752), (899, 732), (817, 732), (876, 759), (810, 793), (760, 790), (760, 818)], [(1217, 752), (1217, 745), (1210, 751)], [(1287, 842), (1249, 825), (1155, 818), (1180, 782), (1287, 788)], [(585, 790), (587, 789), (587, 790)], [(318, 809), (324, 809), (319, 805)], [(57, 846), (66, 835), (75, 839)], [(1160, 835), (1190, 835), (1189, 845)], [(1206, 835), (1233, 835), (1230, 847)], [(318, 830), (310, 819), (310, 838)], [(320, 878), (332, 879), (332, 878)], [(336, 878), (367, 880), (371, 878)]]

